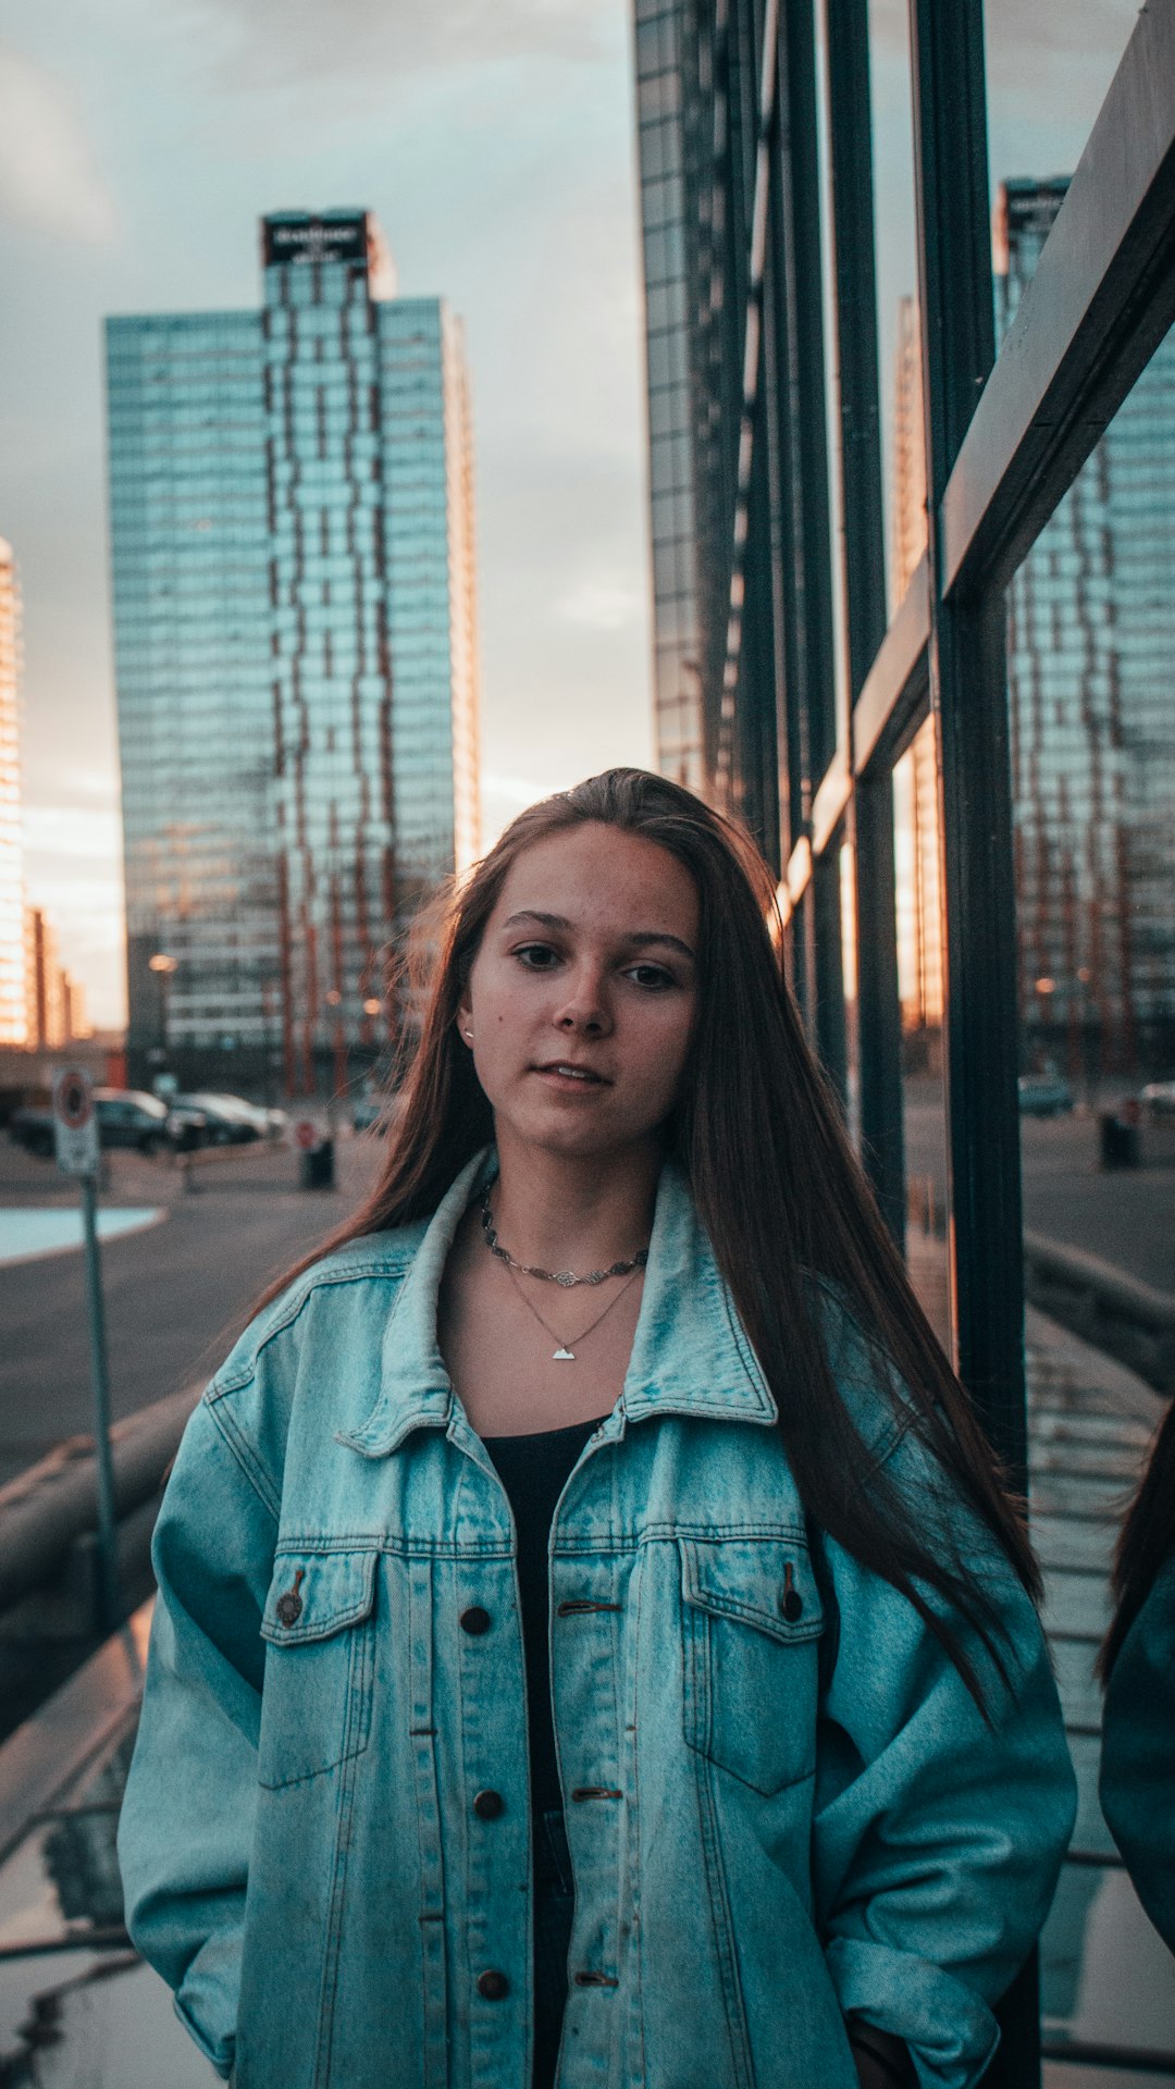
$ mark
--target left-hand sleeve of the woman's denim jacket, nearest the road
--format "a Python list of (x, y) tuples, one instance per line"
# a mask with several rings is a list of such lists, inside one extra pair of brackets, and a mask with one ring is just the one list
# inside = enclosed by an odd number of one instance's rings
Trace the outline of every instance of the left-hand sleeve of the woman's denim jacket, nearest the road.
[(276, 1540), (263, 1475), (194, 1410), (153, 1542), (159, 1594), (119, 1822), (125, 1922), (217, 2074), (234, 2062)]

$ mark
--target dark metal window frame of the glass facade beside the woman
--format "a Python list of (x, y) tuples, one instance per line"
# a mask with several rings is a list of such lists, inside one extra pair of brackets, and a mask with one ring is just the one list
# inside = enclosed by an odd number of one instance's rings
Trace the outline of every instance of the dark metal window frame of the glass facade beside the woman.
[[(715, 196), (725, 182), (723, 213), (711, 221), (723, 224), (728, 391), (717, 439), (707, 424), (719, 457), (711, 489), (719, 526), (702, 549), (725, 568), (730, 600), (721, 606), (723, 574), (711, 570), (721, 616), (711, 614), (705, 677), (709, 788), (776, 856), (794, 988), (843, 1086), (840, 848), (853, 844), (857, 1130), (901, 1239), (893, 765), (935, 714), (951, 1341), (991, 1439), (1024, 1481), (1004, 591), (1175, 324), (1175, 0), (1148, 0), (1137, 19), (999, 355), (983, 0), (907, 0), (928, 549), (889, 623), (868, 0), (820, 0), (838, 372), (832, 445), (824, 441), (815, 0), (679, 4), (715, 73), (728, 65), (715, 92), (734, 90), (744, 104), (742, 136), (725, 123), (725, 163), (715, 155), (713, 171)], [(740, 146), (751, 152), (742, 163)], [(840, 491), (836, 545), (828, 449)], [(763, 514), (767, 545), (755, 541)], [(794, 516), (805, 529), (790, 526)], [(834, 558), (847, 702), (832, 683)], [(1001, 2022), (987, 2081), (1039, 2085), (1035, 1970), (1006, 1997)], [(1108, 2056), (1066, 2045), (1066, 2058)]]

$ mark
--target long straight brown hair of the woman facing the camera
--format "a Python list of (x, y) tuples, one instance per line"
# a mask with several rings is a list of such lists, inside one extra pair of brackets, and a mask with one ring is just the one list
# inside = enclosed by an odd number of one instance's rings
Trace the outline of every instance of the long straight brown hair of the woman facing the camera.
[(914, 1297), (805, 1042), (782, 969), (774, 877), (751, 838), (692, 792), (640, 769), (608, 769), (521, 813), (452, 888), (441, 921), (422, 936), (429, 980), (416, 976), (420, 1034), (381, 1178), (320, 1253), (429, 1216), (493, 1139), (489, 1103), (458, 1038), (462, 990), (510, 865), (546, 836), (588, 821), (656, 842), (698, 890), (698, 1015), (667, 1139), (776, 1395), (805, 1510), (901, 1590), (983, 1707), (974, 1661), (930, 1600), (945, 1598), (1006, 1675), (983, 1567), (960, 1554), (945, 1527), (930, 1533), (912, 1515), (859, 1435), (826, 1354), (820, 1285), (834, 1287), (870, 1345), (870, 1391), (882, 1412), (918, 1433), (930, 1466), (953, 1481), (1037, 1596), (1024, 1519)]

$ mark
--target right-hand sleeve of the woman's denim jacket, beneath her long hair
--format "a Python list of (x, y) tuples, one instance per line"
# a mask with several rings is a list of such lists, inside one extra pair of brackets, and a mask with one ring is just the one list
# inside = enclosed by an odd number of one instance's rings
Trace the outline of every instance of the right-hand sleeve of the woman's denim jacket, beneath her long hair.
[(914, 1604), (826, 1540), (838, 1648), (817, 1738), (815, 1905), (845, 2016), (905, 2039), (922, 2089), (970, 2089), (997, 2045), (991, 2005), (1050, 1909), (1077, 1786), (1031, 1598), (914, 1429), (886, 1475), (993, 1598), (1008, 1684), (951, 1617), (987, 1723)]

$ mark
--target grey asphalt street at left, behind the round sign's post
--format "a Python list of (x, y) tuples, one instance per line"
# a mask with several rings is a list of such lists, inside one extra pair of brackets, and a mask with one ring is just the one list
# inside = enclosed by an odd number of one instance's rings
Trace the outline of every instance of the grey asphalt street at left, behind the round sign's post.
[[(163, 1210), (163, 1220), (102, 1245), (115, 1421), (207, 1379), (272, 1276), (297, 1262), (358, 1201), (378, 1141), (335, 1145), (337, 1191), (297, 1187), (286, 1145), (201, 1155), (188, 1193), (171, 1159), (111, 1153), (105, 1205)], [(77, 1205), (52, 1161), (0, 1143), (0, 1207)], [(0, 1485), (52, 1443), (92, 1425), (86, 1266), (73, 1249), (0, 1268)]]

